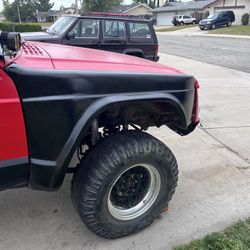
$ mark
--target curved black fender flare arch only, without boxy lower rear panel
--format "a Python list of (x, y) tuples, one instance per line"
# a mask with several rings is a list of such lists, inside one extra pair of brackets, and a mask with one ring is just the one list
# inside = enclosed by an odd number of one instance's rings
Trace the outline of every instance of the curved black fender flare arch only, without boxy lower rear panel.
[[(183, 128), (187, 127), (187, 119), (185, 111), (179, 100), (168, 93), (151, 93), (144, 95), (118, 95), (109, 96), (99, 99), (92, 103), (87, 110), (84, 112), (82, 117), (77, 122), (73, 129), (68, 141), (62, 149), (56, 164), (56, 170), (54, 172), (54, 183), (53, 186), (60, 186), (63, 182), (64, 176), (67, 172), (68, 164), (70, 163), (73, 154), (79, 146), (82, 138), (87, 132), (87, 129), (91, 125), (92, 121), (97, 118), (102, 112), (107, 110), (114, 104), (125, 104), (125, 103), (140, 103), (145, 101), (151, 102), (166, 102), (176, 109), (183, 122)], [(52, 183), (51, 183), (52, 184)]]

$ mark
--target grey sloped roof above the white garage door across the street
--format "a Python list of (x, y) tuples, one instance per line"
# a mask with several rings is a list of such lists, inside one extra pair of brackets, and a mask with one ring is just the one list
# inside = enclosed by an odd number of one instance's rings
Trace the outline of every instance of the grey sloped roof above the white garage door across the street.
[(209, 7), (210, 4), (217, 0), (201, 0), (201, 1), (189, 1), (189, 2), (171, 2), (166, 3), (160, 8), (155, 8), (152, 12), (175, 12), (180, 10), (203, 10)]

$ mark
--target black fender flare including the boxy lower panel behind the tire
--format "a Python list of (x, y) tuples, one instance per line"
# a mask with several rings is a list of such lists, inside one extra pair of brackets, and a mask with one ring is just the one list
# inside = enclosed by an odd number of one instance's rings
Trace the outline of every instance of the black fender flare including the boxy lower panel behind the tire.
[[(180, 101), (169, 93), (122, 94), (104, 97), (93, 102), (76, 123), (56, 161), (31, 159), (29, 185), (33, 189), (55, 191), (60, 188), (67, 173), (68, 165), (88, 132), (88, 128), (101, 113), (114, 104), (165, 102), (173, 105), (182, 121), (182, 128), (187, 128), (187, 118)], [(42, 176), (42, 178), (41, 178)]]

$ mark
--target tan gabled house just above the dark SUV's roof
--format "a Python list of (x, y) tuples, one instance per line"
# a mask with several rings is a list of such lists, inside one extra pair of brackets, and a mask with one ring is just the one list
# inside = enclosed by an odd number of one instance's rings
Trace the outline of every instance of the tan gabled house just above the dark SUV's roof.
[(127, 14), (133, 16), (152, 15), (152, 9), (146, 4), (130, 4), (114, 7), (113, 13)]

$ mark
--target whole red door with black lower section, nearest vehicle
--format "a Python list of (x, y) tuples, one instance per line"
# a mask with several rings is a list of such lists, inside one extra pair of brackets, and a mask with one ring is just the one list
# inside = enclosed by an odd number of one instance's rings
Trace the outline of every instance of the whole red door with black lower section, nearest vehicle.
[(27, 133), (19, 95), (0, 69), (0, 190), (25, 185), (29, 178)]

